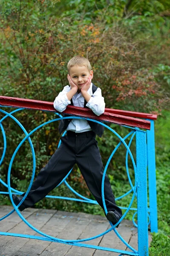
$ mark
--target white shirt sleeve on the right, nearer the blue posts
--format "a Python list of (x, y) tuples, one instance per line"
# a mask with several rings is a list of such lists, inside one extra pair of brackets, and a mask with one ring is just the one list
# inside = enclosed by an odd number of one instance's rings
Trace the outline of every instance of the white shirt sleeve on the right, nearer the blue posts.
[(89, 102), (86, 104), (97, 116), (100, 116), (104, 113), (105, 102), (104, 97), (101, 95), (101, 89), (98, 88), (93, 96), (89, 99)]

